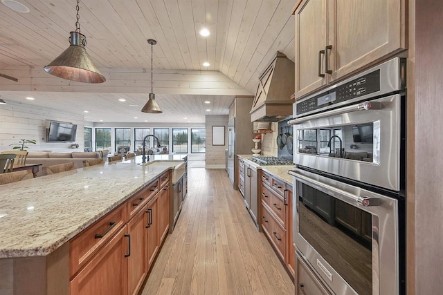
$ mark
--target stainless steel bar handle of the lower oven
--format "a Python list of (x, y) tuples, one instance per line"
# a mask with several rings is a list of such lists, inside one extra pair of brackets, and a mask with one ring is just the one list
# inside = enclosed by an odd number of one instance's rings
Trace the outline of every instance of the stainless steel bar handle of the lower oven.
[[(313, 180), (312, 178), (309, 178), (305, 175), (302, 175), (300, 173), (300, 169), (295, 168), (293, 170), (289, 170), (288, 174), (292, 175), (295, 178), (302, 180), (302, 182), (306, 182), (307, 184), (311, 184), (315, 187), (321, 187), (321, 188), (327, 189), (329, 191), (332, 191), (333, 193), (337, 193), (338, 195), (343, 196), (343, 198), (347, 199), (348, 201), (357, 202), (357, 203), (363, 205), (364, 207), (379, 206), (379, 204), (380, 204), (379, 198), (368, 198), (368, 197), (356, 196), (352, 193), (348, 193), (347, 191), (343, 191), (342, 189), (337, 189), (336, 187), (332, 187), (329, 184), (325, 184), (323, 182), (319, 182), (319, 181)], [(324, 191), (324, 192), (327, 193), (327, 191)]]

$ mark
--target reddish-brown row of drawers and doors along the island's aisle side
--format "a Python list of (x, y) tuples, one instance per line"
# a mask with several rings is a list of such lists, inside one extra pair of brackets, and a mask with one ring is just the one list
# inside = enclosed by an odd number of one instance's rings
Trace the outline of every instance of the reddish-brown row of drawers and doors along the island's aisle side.
[(138, 294), (170, 225), (163, 173), (70, 242), (71, 294)]

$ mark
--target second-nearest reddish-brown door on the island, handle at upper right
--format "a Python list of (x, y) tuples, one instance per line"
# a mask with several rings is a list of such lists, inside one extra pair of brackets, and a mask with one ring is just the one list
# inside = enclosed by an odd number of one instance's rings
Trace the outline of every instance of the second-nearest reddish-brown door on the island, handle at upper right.
[(147, 274), (145, 211), (146, 206), (127, 223), (131, 235), (131, 255), (127, 257), (129, 295), (137, 294)]

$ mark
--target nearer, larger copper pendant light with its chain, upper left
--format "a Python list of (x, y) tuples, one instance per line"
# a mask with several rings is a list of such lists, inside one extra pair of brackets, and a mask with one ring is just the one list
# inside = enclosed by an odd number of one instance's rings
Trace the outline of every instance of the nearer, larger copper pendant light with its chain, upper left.
[(93, 64), (91, 57), (86, 52), (86, 37), (80, 33), (80, 15), (78, 14), (80, 0), (77, 0), (77, 21), (75, 32), (70, 32), (71, 44), (64, 52), (54, 59), (51, 64), (44, 67), (47, 73), (77, 82), (102, 83), (105, 76)]

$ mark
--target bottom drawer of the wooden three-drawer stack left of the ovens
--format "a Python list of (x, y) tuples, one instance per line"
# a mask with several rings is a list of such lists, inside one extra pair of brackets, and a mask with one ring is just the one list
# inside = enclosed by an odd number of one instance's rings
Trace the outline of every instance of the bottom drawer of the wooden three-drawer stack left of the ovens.
[(262, 204), (262, 228), (271, 241), (275, 251), (277, 251), (278, 256), (284, 261), (284, 253), (286, 251), (286, 231), (273, 218), (268, 210), (269, 209), (266, 205)]

